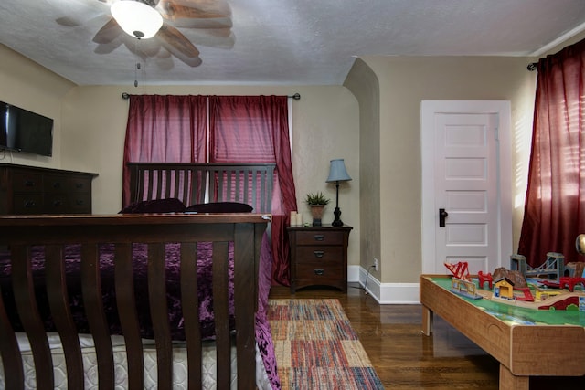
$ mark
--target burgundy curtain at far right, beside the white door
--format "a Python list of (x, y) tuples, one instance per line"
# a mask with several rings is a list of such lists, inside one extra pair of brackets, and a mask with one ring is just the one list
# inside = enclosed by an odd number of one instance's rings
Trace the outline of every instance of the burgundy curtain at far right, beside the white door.
[(528, 187), (518, 253), (530, 266), (548, 252), (583, 261), (585, 233), (585, 41), (537, 64), (537, 96)]

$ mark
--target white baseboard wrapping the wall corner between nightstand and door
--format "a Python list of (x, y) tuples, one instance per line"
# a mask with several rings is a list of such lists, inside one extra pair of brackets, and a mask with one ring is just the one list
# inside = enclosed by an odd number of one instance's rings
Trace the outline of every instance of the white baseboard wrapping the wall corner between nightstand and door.
[(420, 303), (419, 283), (380, 283), (361, 266), (347, 267), (347, 280), (358, 282), (381, 305)]

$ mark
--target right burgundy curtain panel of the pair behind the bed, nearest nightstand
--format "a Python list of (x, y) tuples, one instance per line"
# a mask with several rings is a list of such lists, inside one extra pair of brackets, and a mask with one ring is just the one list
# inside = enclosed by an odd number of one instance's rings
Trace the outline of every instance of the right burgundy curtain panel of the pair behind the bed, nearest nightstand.
[(296, 210), (286, 96), (209, 98), (211, 163), (276, 163), (272, 196), (272, 280), (290, 285), (287, 217)]

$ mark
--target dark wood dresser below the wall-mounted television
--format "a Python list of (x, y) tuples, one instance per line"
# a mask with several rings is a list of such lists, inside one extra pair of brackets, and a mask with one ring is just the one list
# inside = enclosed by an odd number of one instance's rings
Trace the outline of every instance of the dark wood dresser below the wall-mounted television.
[(91, 214), (97, 175), (0, 163), (0, 215)]

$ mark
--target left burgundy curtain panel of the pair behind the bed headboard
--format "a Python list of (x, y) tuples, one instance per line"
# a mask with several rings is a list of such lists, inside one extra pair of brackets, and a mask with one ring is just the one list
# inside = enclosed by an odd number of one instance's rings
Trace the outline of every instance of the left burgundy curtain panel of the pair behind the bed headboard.
[(207, 97), (132, 95), (124, 143), (122, 206), (130, 203), (127, 163), (205, 163)]

